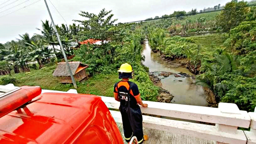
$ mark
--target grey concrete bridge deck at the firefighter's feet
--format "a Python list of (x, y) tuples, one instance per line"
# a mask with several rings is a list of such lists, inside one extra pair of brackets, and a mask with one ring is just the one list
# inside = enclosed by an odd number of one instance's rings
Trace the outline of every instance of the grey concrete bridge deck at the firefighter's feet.
[[(117, 122), (117, 125), (124, 140), (122, 123)], [(214, 142), (210, 140), (184, 136), (181, 134), (175, 134), (161, 130), (143, 128), (143, 132), (145, 135), (149, 136), (149, 140), (145, 141), (143, 144), (214, 144)]]

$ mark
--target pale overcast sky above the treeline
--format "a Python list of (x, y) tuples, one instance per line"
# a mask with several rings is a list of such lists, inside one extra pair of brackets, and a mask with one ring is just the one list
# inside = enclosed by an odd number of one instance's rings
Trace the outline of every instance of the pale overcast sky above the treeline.
[[(44, 0), (0, 0), (0, 43), (6, 43), (18, 38), (18, 34), (26, 32), (32, 36), (39, 33), (41, 20), (50, 21)], [(114, 18), (118, 22), (130, 22), (143, 20), (174, 11), (191, 11), (192, 8), (214, 7), (218, 4), (225, 5), (230, 0), (51, 0), (57, 10), (63, 15), (67, 24), (74, 23), (73, 19), (83, 19), (78, 15), (79, 11), (88, 11), (98, 14), (100, 10), (113, 10)], [(4, 3), (4, 4), (3, 4)], [(65, 24), (58, 12), (47, 0), (55, 24)], [(31, 6), (25, 7), (29, 4)], [(18, 6), (17, 6), (18, 5)], [(22, 8), (22, 9), (21, 9)], [(21, 9), (21, 10), (19, 10)], [(17, 11), (19, 10), (19, 11)], [(15, 12), (14, 12), (15, 11)], [(11, 13), (11, 14), (9, 14)], [(8, 15), (7, 15), (8, 14)]]

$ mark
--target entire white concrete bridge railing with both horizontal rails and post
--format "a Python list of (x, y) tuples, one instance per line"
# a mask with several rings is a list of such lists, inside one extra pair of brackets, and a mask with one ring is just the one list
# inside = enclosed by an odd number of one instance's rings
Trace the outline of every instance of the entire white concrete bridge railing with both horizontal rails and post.
[[(14, 85), (8, 84), (0, 86), (0, 88), (12, 89)], [(67, 92), (42, 90), (42, 93), (46, 92), (77, 93), (76, 90), (72, 89)], [(119, 108), (120, 102), (115, 101), (113, 97), (101, 97), (108, 108)], [(143, 115), (143, 127), (213, 140), (217, 141), (218, 144), (256, 144), (256, 112), (240, 111), (236, 104), (220, 103), (218, 108), (210, 108), (151, 101), (143, 102), (149, 105), (148, 108), (141, 107), (144, 114), (216, 124), (216, 126), (211, 126)], [(122, 122), (120, 112), (110, 112), (116, 122)], [(250, 131), (238, 130), (238, 127), (250, 127)]]

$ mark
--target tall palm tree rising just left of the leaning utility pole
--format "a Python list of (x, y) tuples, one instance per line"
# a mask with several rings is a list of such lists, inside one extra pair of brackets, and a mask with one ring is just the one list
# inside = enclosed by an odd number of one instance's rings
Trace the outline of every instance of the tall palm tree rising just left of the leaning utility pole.
[(36, 28), (36, 29), (40, 30), (43, 34), (42, 36), (41, 35), (39, 35), (39, 36), (42, 39), (44, 39), (47, 43), (49, 43), (50, 45), (53, 46), (53, 51), (56, 54), (54, 45), (57, 45), (58, 42), (57, 42), (53, 27), (51, 26), (51, 24), (49, 24), (49, 21), (46, 20), (45, 22), (42, 21), (42, 28), (43, 28), (43, 30)]

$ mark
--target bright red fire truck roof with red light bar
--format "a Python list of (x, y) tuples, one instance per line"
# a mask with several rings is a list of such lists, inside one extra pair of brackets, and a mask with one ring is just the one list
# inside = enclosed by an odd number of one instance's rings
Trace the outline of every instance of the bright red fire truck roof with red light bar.
[(0, 144), (124, 143), (101, 97), (41, 91), (22, 86), (0, 93)]

